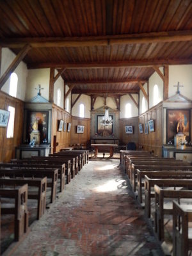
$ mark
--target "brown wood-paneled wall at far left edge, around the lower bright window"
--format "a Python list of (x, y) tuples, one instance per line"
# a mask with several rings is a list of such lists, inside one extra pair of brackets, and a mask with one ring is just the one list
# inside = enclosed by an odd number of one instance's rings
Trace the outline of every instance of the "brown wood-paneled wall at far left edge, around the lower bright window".
[(22, 140), (24, 102), (4, 92), (0, 92), (0, 109), (15, 108), (15, 124), (13, 138), (6, 138), (7, 128), (0, 127), (0, 161), (6, 163), (15, 157), (15, 147)]

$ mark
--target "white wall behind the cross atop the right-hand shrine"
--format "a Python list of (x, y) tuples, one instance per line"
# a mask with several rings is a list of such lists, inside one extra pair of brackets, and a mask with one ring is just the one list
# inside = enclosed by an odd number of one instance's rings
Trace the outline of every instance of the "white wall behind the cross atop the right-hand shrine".
[(192, 65), (169, 66), (169, 97), (177, 92), (173, 85), (177, 85), (178, 82), (184, 85), (179, 88), (180, 93), (192, 100)]

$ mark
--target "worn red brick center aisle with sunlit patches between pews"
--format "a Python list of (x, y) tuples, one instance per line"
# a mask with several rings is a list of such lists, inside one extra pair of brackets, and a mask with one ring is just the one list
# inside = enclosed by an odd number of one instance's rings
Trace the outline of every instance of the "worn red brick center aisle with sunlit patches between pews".
[(86, 164), (13, 255), (162, 255), (118, 164)]

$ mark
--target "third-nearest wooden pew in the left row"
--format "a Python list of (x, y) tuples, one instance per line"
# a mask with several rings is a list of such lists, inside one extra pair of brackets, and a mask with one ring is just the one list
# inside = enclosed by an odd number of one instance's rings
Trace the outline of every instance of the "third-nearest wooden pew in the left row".
[[(35, 177), (42, 178), (47, 177), (47, 188), (51, 188), (51, 203), (56, 199), (57, 181), (58, 181), (58, 169), (56, 170), (42, 170), (42, 169), (12, 169), (4, 168), (0, 169), (0, 177)], [(51, 182), (48, 181), (51, 179)]]

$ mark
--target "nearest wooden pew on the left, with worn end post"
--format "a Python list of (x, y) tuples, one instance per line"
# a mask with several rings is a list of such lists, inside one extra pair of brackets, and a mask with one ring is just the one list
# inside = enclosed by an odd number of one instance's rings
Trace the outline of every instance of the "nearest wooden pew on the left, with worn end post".
[(5, 204), (1, 202), (1, 215), (14, 214), (15, 215), (15, 241), (19, 241), (20, 238), (28, 231), (29, 226), (29, 214), (28, 214), (28, 184), (20, 186), (17, 189), (0, 189), (1, 198), (13, 198), (15, 200), (14, 205)]

